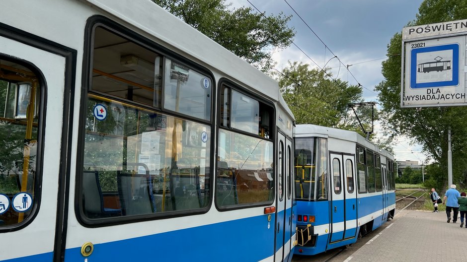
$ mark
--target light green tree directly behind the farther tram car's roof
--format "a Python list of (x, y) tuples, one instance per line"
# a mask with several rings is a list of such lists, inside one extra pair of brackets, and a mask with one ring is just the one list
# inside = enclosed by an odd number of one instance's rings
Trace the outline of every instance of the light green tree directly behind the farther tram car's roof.
[[(289, 66), (275, 74), (296, 123), (361, 132), (355, 117), (349, 114), (348, 104), (363, 101), (362, 88), (340, 79), (334, 81), (327, 70), (289, 61)], [(364, 116), (364, 120), (368, 120), (368, 117), (371, 119), (371, 113), (360, 115)]]

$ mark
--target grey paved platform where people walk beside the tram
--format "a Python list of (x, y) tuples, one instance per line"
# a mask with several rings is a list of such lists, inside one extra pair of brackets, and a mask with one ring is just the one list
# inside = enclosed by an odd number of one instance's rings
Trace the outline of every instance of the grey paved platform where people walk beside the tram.
[(345, 262), (465, 262), (467, 228), (446, 220), (444, 211), (403, 210)]

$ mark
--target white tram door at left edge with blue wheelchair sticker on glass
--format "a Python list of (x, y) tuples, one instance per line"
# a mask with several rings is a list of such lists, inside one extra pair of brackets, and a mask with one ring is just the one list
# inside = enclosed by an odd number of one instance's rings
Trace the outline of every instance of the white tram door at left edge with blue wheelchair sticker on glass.
[(0, 144), (11, 150), (9, 158), (0, 154), (11, 178), (0, 189), (0, 261), (52, 261), (59, 177), (65, 176), (61, 144), (67, 142), (60, 139), (66, 58), (59, 48), (50, 53), (48, 44), (8, 30), (0, 25), (0, 89), (9, 94), (0, 98), (2, 122), (8, 123), (1, 125)]

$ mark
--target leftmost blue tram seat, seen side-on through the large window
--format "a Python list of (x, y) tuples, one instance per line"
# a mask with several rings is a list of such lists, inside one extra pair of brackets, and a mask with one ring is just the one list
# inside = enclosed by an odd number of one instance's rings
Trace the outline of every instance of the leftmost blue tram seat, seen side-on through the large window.
[(120, 209), (104, 207), (104, 196), (100, 187), (98, 171), (83, 171), (82, 189), (84, 212), (88, 217), (121, 215), (122, 210)]

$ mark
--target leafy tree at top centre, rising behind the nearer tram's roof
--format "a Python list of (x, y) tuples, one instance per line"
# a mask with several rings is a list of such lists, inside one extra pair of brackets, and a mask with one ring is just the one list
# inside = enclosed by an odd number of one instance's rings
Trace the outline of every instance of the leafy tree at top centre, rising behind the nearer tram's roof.
[(266, 16), (249, 7), (230, 9), (226, 0), (153, 0), (249, 64), (267, 71), (272, 51), (288, 47), (295, 36), (291, 16)]

